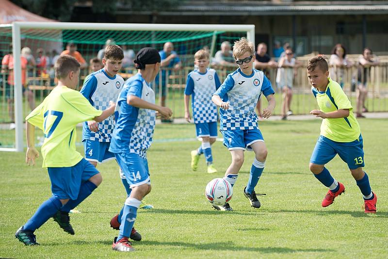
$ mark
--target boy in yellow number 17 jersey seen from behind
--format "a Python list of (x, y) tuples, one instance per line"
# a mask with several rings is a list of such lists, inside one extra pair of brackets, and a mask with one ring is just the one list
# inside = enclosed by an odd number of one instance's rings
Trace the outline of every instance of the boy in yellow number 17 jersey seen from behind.
[(102, 181), (97, 169), (76, 151), (76, 125), (92, 119), (103, 121), (115, 108), (112, 102), (108, 109), (99, 111), (74, 90), (80, 76), (80, 64), (75, 58), (61, 56), (55, 62), (54, 69), (58, 85), (26, 117), (26, 163), (34, 165), (39, 156), (34, 146), (35, 127), (38, 127), (45, 136), (41, 152), (43, 167), (49, 171), (52, 196), (16, 231), (16, 238), (25, 245), (38, 244), (34, 231), (51, 217), (65, 232), (74, 235), (68, 212)]

